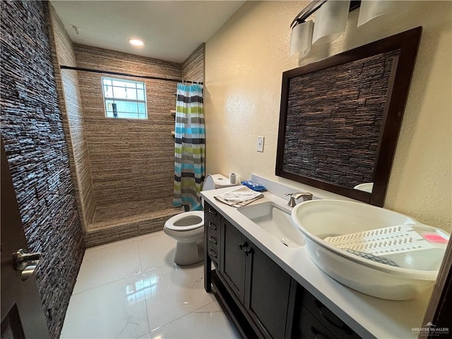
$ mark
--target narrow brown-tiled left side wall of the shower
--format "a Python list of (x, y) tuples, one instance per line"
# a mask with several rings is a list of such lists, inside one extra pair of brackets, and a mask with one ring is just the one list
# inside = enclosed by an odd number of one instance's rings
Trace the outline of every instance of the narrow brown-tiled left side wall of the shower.
[[(49, 3), (50, 4), (50, 3)], [(81, 215), (83, 229), (88, 228), (95, 213), (94, 187), (91, 178), (88, 143), (85, 137), (83, 112), (76, 71), (61, 70), (60, 65), (76, 66), (76, 57), (69, 35), (59, 20), (57, 13), (50, 7), (49, 25), (52, 57), (54, 60), (55, 80), (59, 97), (59, 107), (64, 133), (69, 145), (69, 164), (76, 192), (76, 201)]]

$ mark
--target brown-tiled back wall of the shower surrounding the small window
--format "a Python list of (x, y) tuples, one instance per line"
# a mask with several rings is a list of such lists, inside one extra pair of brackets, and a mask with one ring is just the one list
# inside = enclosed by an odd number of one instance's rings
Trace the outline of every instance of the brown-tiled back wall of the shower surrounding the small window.
[[(78, 67), (145, 76), (181, 78), (181, 65), (75, 45)], [(147, 120), (105, 117), (103, 73), (78, 71), (83, 118), (97, 206), (172, 196), (177, 83), (131, 78), (146, 86)]]

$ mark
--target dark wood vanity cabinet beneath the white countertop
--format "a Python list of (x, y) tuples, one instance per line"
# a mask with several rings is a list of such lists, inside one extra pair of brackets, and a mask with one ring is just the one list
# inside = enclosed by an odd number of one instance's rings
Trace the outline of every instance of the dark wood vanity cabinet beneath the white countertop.
[(244, 338), (359, 338), (207, 202), (204, 225), (204, 287)]

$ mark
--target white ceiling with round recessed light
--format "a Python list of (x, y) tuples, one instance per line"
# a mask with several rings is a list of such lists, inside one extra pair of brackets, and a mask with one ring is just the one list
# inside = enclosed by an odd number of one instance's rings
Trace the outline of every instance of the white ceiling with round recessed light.
[[(178, 63), (244, 2), (51, 1), (74, 43)], [(132, 47), (130, 38), (144, 46)]]

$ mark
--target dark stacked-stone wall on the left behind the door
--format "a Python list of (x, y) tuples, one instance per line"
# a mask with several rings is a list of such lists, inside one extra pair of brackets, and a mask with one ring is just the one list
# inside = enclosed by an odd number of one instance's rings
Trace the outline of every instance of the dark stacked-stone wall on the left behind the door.
[(83, 234), (58, 107), (47, 2), (1, 1), (1, 137), (51, 338), (59, 338)]

